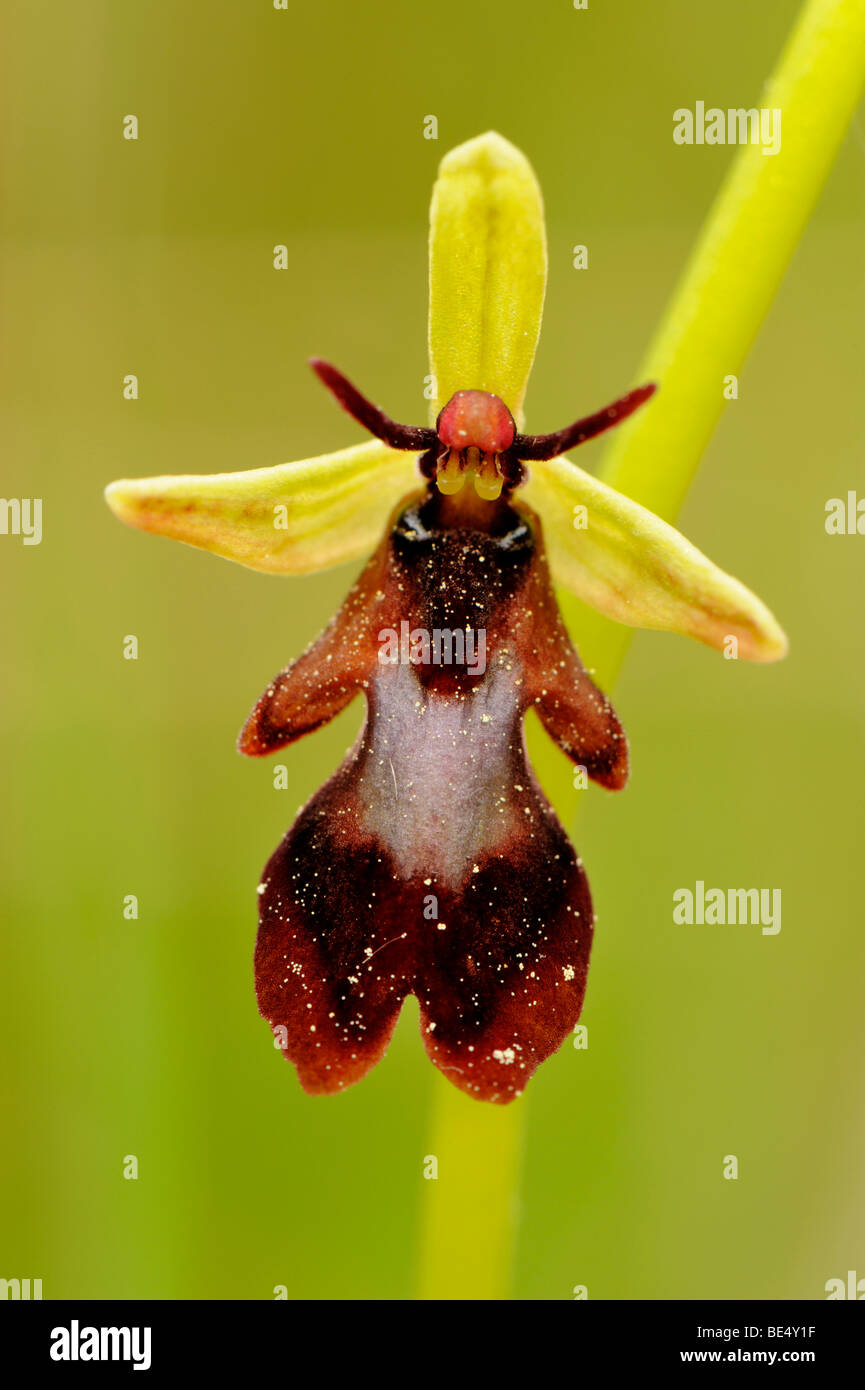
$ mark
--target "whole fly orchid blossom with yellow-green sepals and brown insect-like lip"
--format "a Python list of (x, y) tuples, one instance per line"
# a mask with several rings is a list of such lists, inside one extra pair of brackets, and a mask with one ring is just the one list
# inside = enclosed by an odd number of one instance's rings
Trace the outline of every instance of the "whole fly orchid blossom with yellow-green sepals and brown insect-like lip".
[(580, 1016), (591, 897), (528, 766), (523, 717), (535, 709), (612, 790), (627, 778), (627, 742), (569, 641), (551, 570), (620, 623), (719, 649), (736, 637), (758, 662), (786, 651), (737, 580), (560, 457), (654, 386), (556, 434), (520, 432), (545, 275), (531, 167), (495, 133), (470, 140), (444, 158), (432, 195), (434, 424), (396, 424), (316, 360), (373, 442), (107, 489), (129, 525), (254, 570), (310, 573), (377, 546), (239, 739), (243, 753), (271, 753), (366, 698), (357, 744), (259, 885), (259, 1006), (309, 1093), (370, 1070), (406, 994), (432, 1062), (487, 1101), (519, 1095)]

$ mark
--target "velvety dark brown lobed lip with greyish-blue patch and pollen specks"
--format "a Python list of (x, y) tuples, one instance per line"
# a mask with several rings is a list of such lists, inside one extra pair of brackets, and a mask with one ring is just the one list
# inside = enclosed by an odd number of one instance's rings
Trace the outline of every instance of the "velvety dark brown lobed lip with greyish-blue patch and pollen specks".
[[(580, 1015), (591, 897), (528, 766), (523, 716), (537, 709), (606, 787), (624, 784), (627, 745), (565, 632), (537, 517), (485, 510), (490, 530), (434, 493), (403, 510), (241, 735), (267, 753), (366, 695), (356, 748), (259, 890), (259, 1005), (309, 1091), (359, 1080), (409, 992), (430, 1058), (490, 1101), (519, 1094)], [(405, 641), (388, 660), (381, 634), (403, 623), (483, 632), (483, 674), (416, 664)]]

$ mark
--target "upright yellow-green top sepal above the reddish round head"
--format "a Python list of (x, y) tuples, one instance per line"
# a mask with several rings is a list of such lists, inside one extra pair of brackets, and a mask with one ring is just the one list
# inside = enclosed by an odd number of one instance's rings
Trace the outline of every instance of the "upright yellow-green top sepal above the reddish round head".
[(456, 391), (490, 391), (522, 418), (547, 284), (531, 164), (494, 131), (441, 161), (430, 208), (432, 418)]

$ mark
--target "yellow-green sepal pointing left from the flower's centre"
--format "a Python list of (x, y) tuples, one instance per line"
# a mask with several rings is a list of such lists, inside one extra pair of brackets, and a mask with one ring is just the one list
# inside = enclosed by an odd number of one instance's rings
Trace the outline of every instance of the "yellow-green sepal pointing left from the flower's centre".
[(309, 574), (367, 555), (419, 486), (413, 456), (373, 441), (245, 473), (111, 482), (114, 516), (270, 574)]

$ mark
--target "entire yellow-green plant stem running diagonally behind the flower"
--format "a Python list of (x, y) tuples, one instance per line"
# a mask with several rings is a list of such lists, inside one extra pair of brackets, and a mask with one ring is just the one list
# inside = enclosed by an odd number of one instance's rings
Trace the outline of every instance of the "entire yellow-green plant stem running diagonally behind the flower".
[[(780, 107), (782, 147), (743, 146), (673, 293), (638, 379), (659, 381), (651, 409), (622, 427), (605, 455), (612, 486), (673, 520), (737, 374), (832, 168), (865, 83), (865, 0), (809, 0), (759, 97)], [(683, 158), (694, 149), (683, 147)], [(609, 688), (633, 630), (563, 603), (587, 664)], [(533, 759), (560, 812), (574, 806), (565, 760), (530, 734)], [(435, 1080), (424, 1184), (421, 1298), (506, 1298), (526, 1101), (498, 1108)]]

